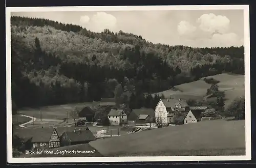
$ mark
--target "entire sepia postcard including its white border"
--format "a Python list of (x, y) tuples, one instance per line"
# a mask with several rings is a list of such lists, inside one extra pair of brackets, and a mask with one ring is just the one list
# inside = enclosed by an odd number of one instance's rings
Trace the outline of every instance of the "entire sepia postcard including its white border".
[(9, 163), (251, 159), (249, 6), (6, 9)]

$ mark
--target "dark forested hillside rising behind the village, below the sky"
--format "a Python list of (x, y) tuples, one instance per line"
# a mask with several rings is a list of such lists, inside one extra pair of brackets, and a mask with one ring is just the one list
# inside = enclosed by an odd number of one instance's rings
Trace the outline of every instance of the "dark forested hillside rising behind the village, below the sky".
[(122, 31), (94, 33), (25, 17), (11, 17), (11, 59), (19, 108), (112, 98), (117, 86), (139, 97), (200, 77), (244, 73), (244, 47), (153, 44)]

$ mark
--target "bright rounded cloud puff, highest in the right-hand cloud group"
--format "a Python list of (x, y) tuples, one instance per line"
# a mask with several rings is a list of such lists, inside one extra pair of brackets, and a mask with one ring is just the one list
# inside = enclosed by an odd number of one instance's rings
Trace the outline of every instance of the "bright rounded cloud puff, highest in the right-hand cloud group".
[(200, 23), (199, 28), (204, 32), (224, 34), (229, 30), (230, 21), (226, 16), (203, 14), (197, 21)]

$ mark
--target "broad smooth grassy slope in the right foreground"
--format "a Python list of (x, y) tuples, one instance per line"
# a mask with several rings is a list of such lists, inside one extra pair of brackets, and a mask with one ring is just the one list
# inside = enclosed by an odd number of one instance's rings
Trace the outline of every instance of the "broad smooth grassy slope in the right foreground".
[(104, 156), (244, 155), (245, 121), (209, 121), (99, 139)]

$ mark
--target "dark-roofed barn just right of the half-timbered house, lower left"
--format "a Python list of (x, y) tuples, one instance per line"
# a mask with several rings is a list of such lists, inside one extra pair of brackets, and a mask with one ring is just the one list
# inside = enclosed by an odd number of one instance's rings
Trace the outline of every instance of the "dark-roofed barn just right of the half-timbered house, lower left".
[(88, 144), (91, 141), (95, 141), (96, 137), (88, 129), (74, 129), (73, 131), (64, 131), (60, 136), (61, 146)]

